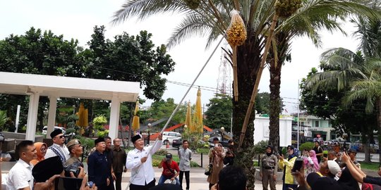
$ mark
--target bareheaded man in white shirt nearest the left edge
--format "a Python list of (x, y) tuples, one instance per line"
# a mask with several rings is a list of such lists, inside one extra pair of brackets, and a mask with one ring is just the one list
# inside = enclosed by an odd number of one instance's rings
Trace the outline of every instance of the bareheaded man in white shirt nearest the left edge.
[(18, 162), (9, 170), (6, 186), (9, 190), (32, 190), (33, 176), (30, 160), (37, 157), (33, 141), (21, 141), (16, 146), (16, 153), (20, 157)]

